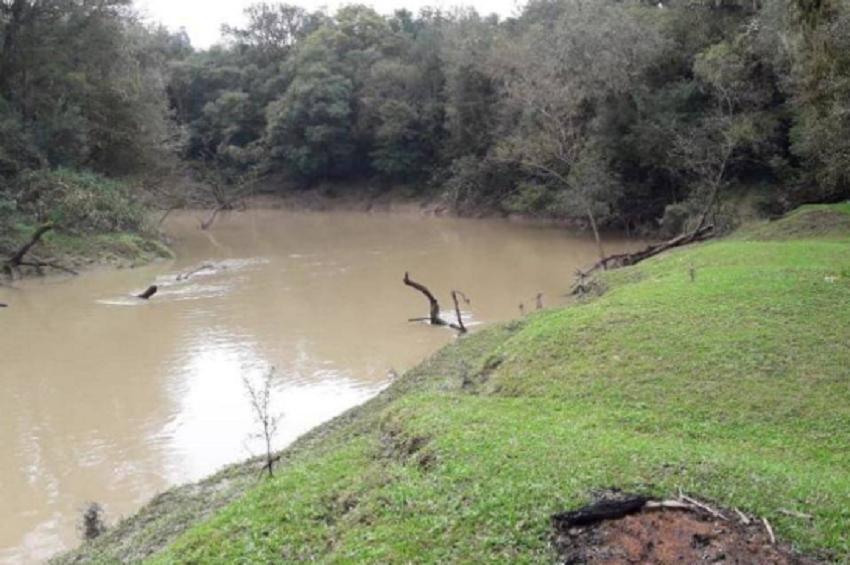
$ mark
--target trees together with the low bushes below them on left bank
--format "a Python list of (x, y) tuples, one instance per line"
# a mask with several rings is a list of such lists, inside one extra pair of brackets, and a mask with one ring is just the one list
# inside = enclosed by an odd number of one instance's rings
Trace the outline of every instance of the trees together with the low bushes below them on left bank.
[(68, 241), (149, 231), (115, 179), (174, 154), (167, 62), (189, 50), (130, 0), (0, 0), (0, 256), (46, 221)]

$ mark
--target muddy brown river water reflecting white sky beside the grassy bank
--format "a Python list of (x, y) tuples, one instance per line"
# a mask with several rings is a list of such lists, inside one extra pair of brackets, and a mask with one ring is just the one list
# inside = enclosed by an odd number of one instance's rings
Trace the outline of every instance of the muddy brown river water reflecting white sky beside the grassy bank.
[[(407, 322), (427, 302), (405, 271), (445, 309), (463, 290), (480, 328), (538, 292), (561, 304), (596, 253), (586, 234), (504, 221), (255, 210), (204, 232), (198, 217), (171, 218), (175, 261), (0, 287), (0, 563), (76, 545), (87, 501), (115, 521), (258, 453), (243, 376), (277, 368), (284, 446), (456, 339)], [(130, 297), (149, 284), (153, 300)]]

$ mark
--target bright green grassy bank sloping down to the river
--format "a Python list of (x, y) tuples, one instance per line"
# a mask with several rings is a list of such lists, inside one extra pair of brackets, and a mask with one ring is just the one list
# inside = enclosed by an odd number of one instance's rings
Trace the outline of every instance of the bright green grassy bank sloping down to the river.
[(441, 351), (273, 480), (233, 467), (57, 563), (551, 563), (551, 514), (609, 489), (681, 489), (850, 563), (850, 208), (601, 283)]

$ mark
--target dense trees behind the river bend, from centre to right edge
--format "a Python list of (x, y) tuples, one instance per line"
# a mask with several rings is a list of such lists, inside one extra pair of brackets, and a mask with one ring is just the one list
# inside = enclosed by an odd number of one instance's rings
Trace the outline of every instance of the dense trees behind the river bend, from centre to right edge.
[(671, 232), (723, 199), (850, 195), (847, 0), (248, 15), (173, 69), (190, 159)]

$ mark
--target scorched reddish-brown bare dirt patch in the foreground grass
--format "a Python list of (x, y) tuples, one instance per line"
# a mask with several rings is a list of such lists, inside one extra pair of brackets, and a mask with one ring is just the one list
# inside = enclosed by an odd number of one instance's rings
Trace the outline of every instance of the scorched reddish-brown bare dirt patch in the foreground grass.
[(559, 521), (556, 516), (553, 524), (559, 563), (564, 565), (816, 563), (787, 546), (771, 543), (760, 520), (722, 520), (699, 509), (644, 508), (583, 525)]

